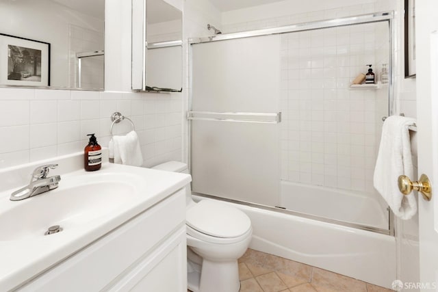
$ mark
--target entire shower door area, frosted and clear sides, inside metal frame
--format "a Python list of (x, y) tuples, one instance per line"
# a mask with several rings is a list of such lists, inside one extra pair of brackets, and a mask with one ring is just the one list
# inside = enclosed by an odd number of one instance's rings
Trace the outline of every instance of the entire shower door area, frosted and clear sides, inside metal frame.
[(388, 233), (372, 178), (392, 85), (350, 84), (367, 64), (380, 81), (390, 44), (387, 21), (192, 44), (193, 190)]

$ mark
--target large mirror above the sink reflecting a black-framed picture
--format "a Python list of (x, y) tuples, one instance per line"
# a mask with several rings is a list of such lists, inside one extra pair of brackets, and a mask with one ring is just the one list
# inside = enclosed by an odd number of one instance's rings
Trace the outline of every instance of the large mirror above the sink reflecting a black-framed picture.
[(0, 85), (103, 90), (104, 4), (0, 0)]

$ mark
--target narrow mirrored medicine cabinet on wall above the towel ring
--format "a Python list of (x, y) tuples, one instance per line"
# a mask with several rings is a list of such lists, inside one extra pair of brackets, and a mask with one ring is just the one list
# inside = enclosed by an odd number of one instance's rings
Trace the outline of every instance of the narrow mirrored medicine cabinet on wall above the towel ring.
[(164, 0), (133, 0), (132, 89), (182, 91), (182, 12)]

